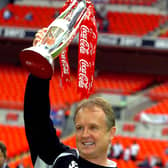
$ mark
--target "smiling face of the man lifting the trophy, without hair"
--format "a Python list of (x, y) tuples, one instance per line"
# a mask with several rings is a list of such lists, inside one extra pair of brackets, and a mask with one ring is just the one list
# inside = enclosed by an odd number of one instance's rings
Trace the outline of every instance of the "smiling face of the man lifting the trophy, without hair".
[(106, 117), (99, 107), (82, 108), (75, 118), (76, 144), (80, 156), (89, 160), (106, 157), (115, 128), (108, 130)]

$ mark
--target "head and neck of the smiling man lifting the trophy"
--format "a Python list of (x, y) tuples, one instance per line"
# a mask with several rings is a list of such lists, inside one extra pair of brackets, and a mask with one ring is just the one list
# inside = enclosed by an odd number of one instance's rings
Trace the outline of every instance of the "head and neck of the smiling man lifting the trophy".
[(100, 165), (108, 165), (107, 150), (115, 133), (114, 114), (102, 98), (81, 102), (74, 116), (76, 144), (80, 156)]

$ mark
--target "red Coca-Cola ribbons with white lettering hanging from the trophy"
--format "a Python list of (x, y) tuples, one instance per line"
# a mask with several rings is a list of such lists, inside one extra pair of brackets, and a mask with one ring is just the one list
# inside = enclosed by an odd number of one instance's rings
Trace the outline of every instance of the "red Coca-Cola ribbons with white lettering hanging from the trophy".
[[(63, 10), (71, 3), (68, 0)], [(95, 19), (94, 6), (91, 1), (87, 1), (87, 11), (80, 29), (79, 29), (79, 48), (78, 48), (78, 79), (77, 90), (81, 94), (81, 98), (89, 97), (93, 92), (94, 68), (97, 46), (97, 26)], [(61, 78), (64, 85), (69, 83), (70, 68), (67, 59), (67, 49), (61, 53)]]

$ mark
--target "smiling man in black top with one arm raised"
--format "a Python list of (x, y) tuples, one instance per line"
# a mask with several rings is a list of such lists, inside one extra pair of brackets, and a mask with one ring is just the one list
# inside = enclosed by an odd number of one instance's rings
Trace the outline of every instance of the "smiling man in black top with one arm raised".
[(115, 134), (111, 105), (102, 98), (82, 101), (75, 112), (76, 149), (70, 149), (56, 136), (49, 118), (49, 81), (29, 75), (24, 100), (24, 121), (31, 158), (35, 168), (111, 168), (107, 158)]

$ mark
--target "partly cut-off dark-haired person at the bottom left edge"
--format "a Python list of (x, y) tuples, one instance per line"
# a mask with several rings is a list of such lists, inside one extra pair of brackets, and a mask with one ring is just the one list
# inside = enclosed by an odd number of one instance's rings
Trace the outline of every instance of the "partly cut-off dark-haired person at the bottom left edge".
[(6, 146), (3, 142), (0, 142), (0, 168), (9, 168), (6, 163)]

